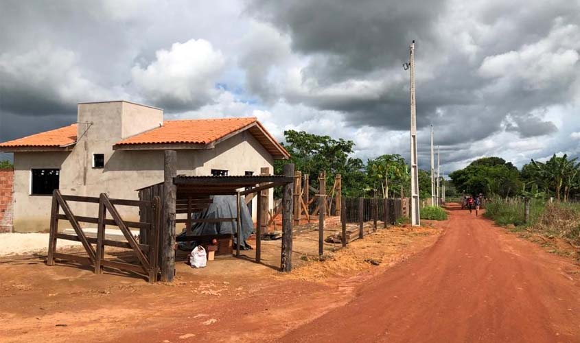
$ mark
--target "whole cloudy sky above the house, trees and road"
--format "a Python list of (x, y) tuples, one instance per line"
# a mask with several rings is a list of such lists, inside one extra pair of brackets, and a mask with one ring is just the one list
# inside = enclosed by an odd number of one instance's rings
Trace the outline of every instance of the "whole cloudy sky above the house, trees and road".
[[(0, 141), (127, 99), (166, 119), (253, 115), (409, 154), (415, 45), (420, 167), (445, 174), (580, 152), (579, 0), (0, 0)], [(5, 155), (0, 156), (3, 157)]]

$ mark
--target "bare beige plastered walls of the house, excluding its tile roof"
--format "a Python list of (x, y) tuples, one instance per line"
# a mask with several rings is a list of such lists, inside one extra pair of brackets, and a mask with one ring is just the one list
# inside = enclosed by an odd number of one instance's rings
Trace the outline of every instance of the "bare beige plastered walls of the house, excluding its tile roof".
[[(141, 116), (141, 117), (140, 117)], [(159, 126), (163, 112), (126, 102), (79, 104), (78, 143), (71, 152), (14, 153), (14, 231), (41, 232), (49, 229), (51, 196), (31, 196), (32, 168), (59, 168), (60, 191), (78, 196), (137, 199), (137, 189), (163, 181), (163, 151), (113, 150), (125, 134)], [(140, 121), (140, 118), (143, 121)], [(135, 123), (137, 129), (130, 128)], [(104, 154), (104, 168), (93, 167), (93, 154)], [(179, 150), (178, 174), (210, 175), (211, 169), (227, 169), (229, 175), (244, 175), (261, 167), (273, 170), (274, 160), (249, 132), (241, 132), (209, 150)], [(270, 192), (272, 193), (272, 192)], [(253, 215), (257, 207), (253, 200)], [(270, 208), (273, 198), (270, 196)], [(97, 204), (71, 202), (77, 215), (95, 217)], [(119, 206), (125, 220), (139, 219), (137, 208)], [(86, 224), (86, 226), (94, 226)], [(68, 228), (61, 221), (60, 229)]]

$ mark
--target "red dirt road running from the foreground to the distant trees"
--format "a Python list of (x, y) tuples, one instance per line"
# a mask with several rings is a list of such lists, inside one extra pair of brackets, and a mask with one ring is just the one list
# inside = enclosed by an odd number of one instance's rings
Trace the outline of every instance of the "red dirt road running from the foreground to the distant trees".
[(434, 246), (279, 342), (580, 342), (575, 265), (451, 210)]

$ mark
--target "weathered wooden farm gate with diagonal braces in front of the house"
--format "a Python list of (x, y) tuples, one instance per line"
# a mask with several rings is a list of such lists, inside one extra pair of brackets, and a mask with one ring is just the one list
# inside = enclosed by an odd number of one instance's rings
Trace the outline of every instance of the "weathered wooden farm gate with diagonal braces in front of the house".
[[(99, 204), (97, 217), (84, 217), (75, 215), (71, 211), (68, 202), (90, 202)], [(128, 222), (121, 218), (115, 205), (137, 206), (140, 209), (150, 209), (150, 222)], [(62, 209), (63, 213), (60, 213)], [(111, 216), (111, 219), (107, 218)], [(58, 220), (68, 220), (75, 230), (76, 235), (58, 233)], [(79, 223), (97, 224), (97, 237), (87, 237)], [(123, 233), (126, 241), (117, 241), (105, 238), (105, 228), (107, 225), (117, 226)], [(101, 193), (99, 198), (87, 196), (65, 196), (55, 189), (52, 195), (52, 208), (50, 216), (50, 235), (48, 245), (47, 265), (54, 265), (54, 259), (64, 259), (77, 263), (93, 265), (95, 274), (102, 274), (103, 267), (111, 267), (119, 270), (128, 270), (138, 274), (144, 274), (149, 282), (157, 281), (159, 274), (158, 249), (159, 249), (159, 228), (161, 227), (161, 200), (154, 197), (153, 200), (125, 200), (111, 199), (105, 193)], [(151, 241), (149, 244), (140, 244), (133, 237), (129, 228), (139, 228), (141, 232), (148, 233)], [(69, 241), (80, 241), (88, 257), (69, 255), (56, 252), (56, 240), (67, 239)], [(96, 249), (93, 248), (95, 244)], [(110, 261), (104, 259), (105, 246), (115, 246), (119, 248), (132, 249), (137, 257), (137, 264)]]

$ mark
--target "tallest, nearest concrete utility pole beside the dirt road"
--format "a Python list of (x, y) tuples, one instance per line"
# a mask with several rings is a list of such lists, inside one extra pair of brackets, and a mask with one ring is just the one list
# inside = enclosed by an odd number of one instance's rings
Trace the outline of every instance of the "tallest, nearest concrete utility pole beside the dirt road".
[(409, 47), (409, 62), (403, 64), (410, 69), (410, 112), (411, 112), (411, 199), (410, 220), (412, 226), (421, 224), (419, 219), (419, 170), (417, 166), (417, 113), (415, 111), (415, 40)]

